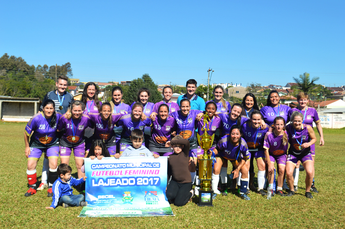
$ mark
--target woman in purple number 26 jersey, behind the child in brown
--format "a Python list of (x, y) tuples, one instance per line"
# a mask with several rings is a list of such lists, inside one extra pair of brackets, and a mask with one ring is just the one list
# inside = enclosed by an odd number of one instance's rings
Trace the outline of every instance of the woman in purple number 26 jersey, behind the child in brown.
[(203, 112), (200, 110), (191, 110), (190, 101), (188, 98), (183, 98), (180, 102), (180, 110), (171, 114), (176, 121), (176, 134), (181, 135), (184, 139), (188, 139), (190, 143), (189, 148), (189, 171), (191, 173), (192, 184), (196, 177), (196, 165), (198, 150), (198, 139), (195, 132), (195, 121), (200, 119)]

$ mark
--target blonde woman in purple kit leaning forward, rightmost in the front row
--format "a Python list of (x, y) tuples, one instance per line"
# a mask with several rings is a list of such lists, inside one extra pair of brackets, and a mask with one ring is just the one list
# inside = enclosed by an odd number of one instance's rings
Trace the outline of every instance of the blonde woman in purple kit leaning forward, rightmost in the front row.
[(314, 163), (311, 157), (311, 145), (316, 142), (316, 136), (311, 126), (303, 124), (303, 115), (300, 112), (294, 111), (291, 114), (291, 123), (286, 128), (290, 143), (289, 155), (286, 161), (286, 180), (290, 188), (288, 196), (293, 196), (295, 194), (293, 170), (297, 162), (301, 161), (307, 173), (305, 195), (307, 198), (312, 198), (310, 189)]

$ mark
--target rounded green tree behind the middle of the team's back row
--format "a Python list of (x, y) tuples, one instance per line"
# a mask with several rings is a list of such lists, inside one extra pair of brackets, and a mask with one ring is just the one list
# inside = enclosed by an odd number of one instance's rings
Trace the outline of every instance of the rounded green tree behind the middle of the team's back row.
[(123, 90), (123, 99), (125, 103), (132, 104), (137, 101), (137, 94), (140, 88), (147, 88), (150, 91), (149, 102), (159, 102), (162, 101), (162, 94), (157, 90), (158, 86), (152, 81), (148, 74), (143, 74), (141, 78), (132, 80), (128, 90)]

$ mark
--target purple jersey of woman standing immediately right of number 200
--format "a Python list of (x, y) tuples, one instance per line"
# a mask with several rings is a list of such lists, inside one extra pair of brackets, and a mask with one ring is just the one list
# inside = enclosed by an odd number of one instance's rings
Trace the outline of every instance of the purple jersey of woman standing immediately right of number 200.
[(66, 119), (61, 116), (58, 131), (64, 131), (60, 138), (60, 145), (64, 147), (78, 146), (84, 142), (84, 131), (87, 127), (94, 128), (88, 115), (82, 114), (81, 119)]

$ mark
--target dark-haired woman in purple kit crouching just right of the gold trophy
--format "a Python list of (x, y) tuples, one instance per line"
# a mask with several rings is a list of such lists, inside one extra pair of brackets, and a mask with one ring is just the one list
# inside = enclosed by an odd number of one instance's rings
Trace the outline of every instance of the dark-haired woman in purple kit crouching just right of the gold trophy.
[(213, 150), (216, 155), (216, 163), (214, 164), (212, 173), (212, 190), (216, 191), (219, 182), (220, 169), (226, 160), (229, 160), (235, 169), (232, 171), (234, 173), (234, 179), (239, 176), (241, 171), (241, 188), (240, 196), (245, 200), (250, 200), (250, 198), (245, 194), (247, 192), (248, 186), (248, 167), (245, 166), (247, 159), (249, 158), (248, 146), (245, 140), (241, 137), (242, 131), (241, 127), (238, 125), (233, 125), (230, 130), (230, 135), (225, 135), (222, 137), (217, 147)]

